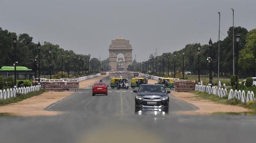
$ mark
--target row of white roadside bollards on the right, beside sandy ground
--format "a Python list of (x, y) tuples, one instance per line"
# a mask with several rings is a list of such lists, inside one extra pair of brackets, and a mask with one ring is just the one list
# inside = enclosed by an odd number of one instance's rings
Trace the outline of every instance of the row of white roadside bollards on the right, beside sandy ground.
[(218, 97), (225, 97), (228, 95), (228, 99), (238, 99), (241, 100), (242, 103), (248, 103), (250, 101), (254, 101), (254, 92), (253, 91), (248, 91), (247, 92), (247, 97), (245, 98), (245, 91), (244, 90), (233, 90), (230, 89), (229, 94), (227, 92), (227, 88), (218, 88), (217, 86), (205, 86), (205, 85), (195, 85), (195, 90), (196, 91), (201, 91), (205, 92), (208, 94), (213, 94), (217, 95)]

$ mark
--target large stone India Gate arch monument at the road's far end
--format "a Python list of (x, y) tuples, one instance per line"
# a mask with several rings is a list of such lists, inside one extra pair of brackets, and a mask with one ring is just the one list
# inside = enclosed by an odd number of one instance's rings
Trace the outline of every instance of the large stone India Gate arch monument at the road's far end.
[(132, 45), (130, 45), (130, 40), (125, 40), (123, 37), (118, 37), (116, 40), (111, 41), (109, 45), (109, 65), (111, 66), (111, 71), (118, 70), (119, 60), (121, 59), (117, 55), (124, 55), (124, 70), (127, 69), (128, 65), (132, 65)]

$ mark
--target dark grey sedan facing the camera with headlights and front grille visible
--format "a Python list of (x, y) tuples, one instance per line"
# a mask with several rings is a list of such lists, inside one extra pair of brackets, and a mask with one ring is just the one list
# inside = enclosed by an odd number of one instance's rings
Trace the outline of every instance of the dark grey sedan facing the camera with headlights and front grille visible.
[(140, 110), (154, 110), (154, 111), (168, 111), (169, 110), (169, 96), (171, 93), (165, 90), (161, 84), (141, 84), (139, 90), (133, 90), (135, 97), (135, 111)]

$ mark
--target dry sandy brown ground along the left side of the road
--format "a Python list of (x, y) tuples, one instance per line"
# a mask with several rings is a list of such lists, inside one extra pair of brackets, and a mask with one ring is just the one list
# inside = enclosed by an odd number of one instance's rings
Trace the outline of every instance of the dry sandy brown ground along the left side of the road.
[[(80, 84), (79, 87), (85, 88), (95, 82), (100, 81), (100, 79), (104, 77), (106, 76), (98, 76), (95, 78), (84, 80), (79, 83)], [(74, 92), (48, 91), (41, 95), (34, 96), (17, 103), (0, 106), (0, 113), (7, 113), (13, 116), (54, 116), (54, 115), (62, 114), (62, 112), (46, 111), (44, 109), (49, 105), (51, 105), (52, 103), (56, 103), (57, 101), (64, 99), (65, 97), (71, 95), (72, 93)]]

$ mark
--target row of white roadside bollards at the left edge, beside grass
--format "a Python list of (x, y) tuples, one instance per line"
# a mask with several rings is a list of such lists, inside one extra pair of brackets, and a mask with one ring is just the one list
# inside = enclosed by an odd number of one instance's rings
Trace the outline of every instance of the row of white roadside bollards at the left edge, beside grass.
[(0, 90), (0, 99), (8, 99), (11, 97), (16, 97), (17, 93), (19, 94), (27, 94), (30, 92), (38, 91), (40, 90), (40, 86), (27, 86), (27, 87), (19, 87), (19, 88), (9, 88), (9, 89), (4, 89)]

